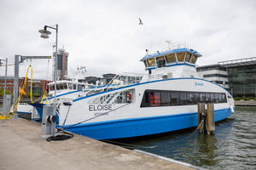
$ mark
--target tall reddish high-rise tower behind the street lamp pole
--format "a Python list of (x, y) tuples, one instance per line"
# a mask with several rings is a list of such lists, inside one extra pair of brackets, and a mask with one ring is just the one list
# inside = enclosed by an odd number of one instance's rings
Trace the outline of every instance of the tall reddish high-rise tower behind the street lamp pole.
[[(55, 53), (53, 54), (53, 68), (52, 68), (52, 79), (54, 80), (54, 74), (55, 74)], [(57, 54), (57, 61), (56, 61), (56, 70), (57, 80), (63, 80), (65, 77), (67, 77), (67, 58), (68, 53), (65, 51), (65, 49), (59, 49)]]

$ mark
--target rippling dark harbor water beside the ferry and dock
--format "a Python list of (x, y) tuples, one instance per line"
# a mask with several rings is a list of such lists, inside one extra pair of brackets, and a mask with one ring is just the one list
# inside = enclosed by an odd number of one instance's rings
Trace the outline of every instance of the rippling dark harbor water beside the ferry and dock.
[(149, 138), (132, 139), (144, 150), (207, 169), (256, 169), (256, 107), (236, 107), (228, 119), (216, 123), (215, 135), (191, 136), (195, 128)]

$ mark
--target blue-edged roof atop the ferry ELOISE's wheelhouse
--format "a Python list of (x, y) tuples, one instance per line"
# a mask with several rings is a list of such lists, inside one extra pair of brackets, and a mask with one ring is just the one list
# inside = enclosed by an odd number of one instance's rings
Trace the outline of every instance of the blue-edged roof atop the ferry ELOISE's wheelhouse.
[(202, 55), (195, 51), (194, 49), (189, 49), (189, 48), (177, 48), (177, 49), (172, 49), (172, 50), (168, 50), (168, 51), (164, 51), (164, 52), (160, 52), (160, 53), (156, 53), (156, 54), (148, 54), (148, 55), (145, 55), (143, 57), (143, 59), (141, 59), (140, 61), (143, 61), (144, 59), (150, 59), (150, 58), (153, 58), (153, 57), (156, 57), (156, 56), (162, 56), (162, 55), (166, 55), (166, 54), (173, 54), (173, 53), (179, 53), (179, 52), (189, 52), (191, 54), (195, 54), (197, 55), (198, 57), (201, 57)]

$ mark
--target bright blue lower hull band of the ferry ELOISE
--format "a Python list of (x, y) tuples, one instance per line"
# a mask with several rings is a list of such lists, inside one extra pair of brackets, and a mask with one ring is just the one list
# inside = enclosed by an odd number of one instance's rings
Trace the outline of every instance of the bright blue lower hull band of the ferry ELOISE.
[[(230, 108), (214, 111), (214, 121), (224, 120), (231, 114)], [(120, 139), (172, 132), (188, 127), (196, 127), (197, 125), (198, 116), (197, 112), (195, 112), (176, 116), (157, 116), (120, 122), (84, 123), (78, 127), (67, 128), (67, 131), (92, 139)]]

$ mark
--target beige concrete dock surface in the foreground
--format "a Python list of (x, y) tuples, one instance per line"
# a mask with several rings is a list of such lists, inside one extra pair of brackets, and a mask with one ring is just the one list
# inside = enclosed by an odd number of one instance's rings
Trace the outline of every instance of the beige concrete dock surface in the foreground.
[(0, 121), (0, 169), (193, 169), (84, 136), (47, 142), (41, 124)]

